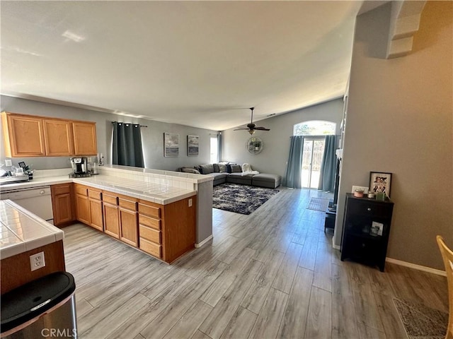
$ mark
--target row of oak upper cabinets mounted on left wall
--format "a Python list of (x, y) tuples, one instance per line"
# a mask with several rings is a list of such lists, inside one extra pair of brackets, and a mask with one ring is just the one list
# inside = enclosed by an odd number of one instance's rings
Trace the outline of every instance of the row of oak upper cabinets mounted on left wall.
[(6, 157), (96, 155), (96, 123), (2, 112)]

